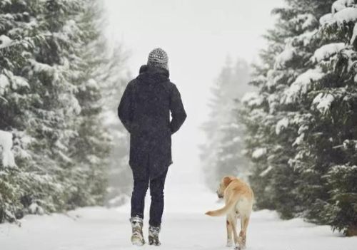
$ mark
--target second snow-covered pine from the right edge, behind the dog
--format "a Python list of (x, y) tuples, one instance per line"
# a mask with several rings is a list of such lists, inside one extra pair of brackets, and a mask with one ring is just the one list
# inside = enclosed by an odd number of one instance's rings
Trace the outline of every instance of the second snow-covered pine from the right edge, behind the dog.
[[(268, 31), (268, 49), (261, 53), (263, 64), (255, 67), (252, 80), (259, 91), (243, 98), (241, 115), (247, 128), (248, 156), (254, 162), (251, 184), (256, 205), (277, 209), (282, 217), (290, 218), (304, 212), (303, 204), (308, 205), (300, 195), (301, 168), (293, 162), (301, 157), (296, 147), (303, 140), (303, 125), (309, 119), (301, 112), (309, 103), (287, 103), (286, 89), (306, 86), (311, 78), (321, 76), (308, 70), (321, 40), (318, 19), (331, 1), (289, 0), (286, 4), (273, 11), (278, 21)], [(298, 94), (301, 91), (306, 92), (306, 88), (298, 89)]]

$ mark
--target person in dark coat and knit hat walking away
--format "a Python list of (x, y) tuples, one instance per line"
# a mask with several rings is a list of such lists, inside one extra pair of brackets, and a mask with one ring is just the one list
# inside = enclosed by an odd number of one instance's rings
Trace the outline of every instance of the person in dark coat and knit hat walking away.
[[(118, 107), (118, 116), (130, 133), (129, 165), (133, 172), (131, 194), (131, 242), (145, 244), (144, 202), (150, 187), (149, 244), (159, 246), (164, 212), (164, 185), (171, 165), (171, 135), (186, 120), (181, 95), (169, 79), (169, 58), (155, 48), (139, 75), (129, 82)], [(171, 113), (171, 119), (170, 119)]]

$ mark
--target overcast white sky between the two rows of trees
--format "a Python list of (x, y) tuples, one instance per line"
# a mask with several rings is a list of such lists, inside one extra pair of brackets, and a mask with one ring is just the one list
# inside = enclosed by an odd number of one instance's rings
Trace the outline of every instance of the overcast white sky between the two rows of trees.
[[(261, 37), (273, 26), (271, 10), (283, 0), (104, 0), (111, 42), (130, 51), (133, 73), (156, 47), (169, 55), (171, 80), (181, 91), (188, 120), (174, 135), (172, 172), (185, 178), (199, 167), (199, 126), (207, 118), (210, 86), (226, 57), (256, 60)], [(172, 174), (176, 175), (176, 174)], [(182, 179), (181, 179), (182, 181)]]

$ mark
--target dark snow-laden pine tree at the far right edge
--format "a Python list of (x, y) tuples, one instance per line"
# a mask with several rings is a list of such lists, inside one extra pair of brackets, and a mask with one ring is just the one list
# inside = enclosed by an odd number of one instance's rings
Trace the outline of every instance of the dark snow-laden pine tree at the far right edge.
[(310, 107), (304, 113), (311, 119), (299, 151), (309, 152), (301, 161), (303, 181), (323, 186), (305, 192), (315, 199), (308, 218), (348, 236), (357, 235), (356, 4), (335, 1), (320, 19), (322, 41), (311, 61), (323, 77), (313, 80), (306, 93)]

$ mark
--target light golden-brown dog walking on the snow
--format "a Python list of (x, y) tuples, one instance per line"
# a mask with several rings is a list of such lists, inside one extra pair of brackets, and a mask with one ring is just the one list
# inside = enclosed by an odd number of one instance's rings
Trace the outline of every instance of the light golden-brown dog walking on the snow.
[[(206, 212), (207, 215), (217, 217), (226, 214), (227, 217), (227, 246), (232, 246), (232, 233), (235, 249), (246, 248), (246, 229), (251, 216), (254, 194), (251, 187), (236, 177), (223, 177), (218, 186), (219, 198), (224, 198), (226, 205), (215, 211)], [(241, 217), (241, 232), (236, 231), (237, 219)]]

